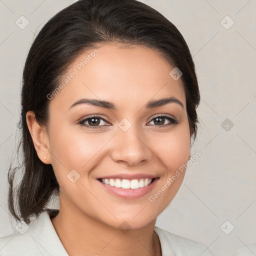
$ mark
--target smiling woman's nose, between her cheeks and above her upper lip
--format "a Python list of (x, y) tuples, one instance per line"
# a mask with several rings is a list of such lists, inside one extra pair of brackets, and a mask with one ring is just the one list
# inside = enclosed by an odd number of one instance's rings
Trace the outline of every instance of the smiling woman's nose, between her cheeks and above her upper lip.
[(112, 146), (112, 160), (124, 162), (128, 166), (135, 166), (142, 161), (149, 161), (152, 157), (148, 141), (134, 128), (129, 128), (127, 131), (119, 129), (114, 137)]

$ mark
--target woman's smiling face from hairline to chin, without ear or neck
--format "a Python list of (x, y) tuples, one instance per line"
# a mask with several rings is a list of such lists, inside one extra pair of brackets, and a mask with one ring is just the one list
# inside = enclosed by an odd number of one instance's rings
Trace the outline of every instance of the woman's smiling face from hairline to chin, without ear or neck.
[[(152, 49), (123, 44), (101, 45), (73, 62), (49, 102), (47, 157), (60, 210), (139, 228), (170, 203), (184, 172), (172, 176), (190, 156), (185, 92), (169, 75), (173, 68)], [(176, 100), (153, 103), (170, 97)]]

